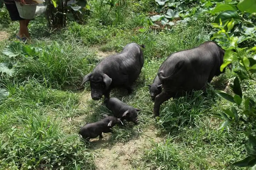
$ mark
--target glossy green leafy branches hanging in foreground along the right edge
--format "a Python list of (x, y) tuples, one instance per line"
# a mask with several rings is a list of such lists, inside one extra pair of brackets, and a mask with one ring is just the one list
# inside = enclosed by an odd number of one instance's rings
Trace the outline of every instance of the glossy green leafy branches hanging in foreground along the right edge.
[[(256, 47), (239, 47), (239, 43), (251, 38), (250, 36), (245, 37), (243, 35), (243, 28), (256, 28), (256, 21), (253, 18), (253, 13), (256, 12), (256, 8), (253, 8), (254, 6), (256, 6), (255, 0), (242, 0), (239, 3), (219, 4), (212, 11), (212, 14), (220, 12), (212, 24), (213, 28), (217, 28), (218, 30), (213, 33), (212, 39), (216, 39), (226, 50), (224, 63), (220, 67), (220, 70), (224, 70), (229, 64), (235, 62), (238, 62), (240, 66), (239, 70), (234, 70), (236, 78), (230, 86), (234, 95), (229, 95), (222, 91), (217, 92), (220, 97), (233, 103), (231, 109), (224, 109), (223, 111), (219, 111), (218, 114), (213, 115), (224, 120), (219, 125), (219, 128), (224, 128), (231, 123), (237, 123), (242, 126), (255, 123), (256, 102), (247, 96), (243, 96), (240, 81), (244, 81), (245, 79), (255, 81), (253, 77), (256, 73), (256, 60), (247, 56), (253, 55)], [(239, 37), (234, 32), (235, 27), (241, 32), (238, 34), (240, 35)], [(241, 106), (242, 101), (244, 101), (244, 107)], [(256, 139), (251, 134), (248, 137), (249, 141), (245, 145), (245, 150), (250, 156), (239, 162), (235, 162), (234, 165), (236, 166), (253, 167), (256, 164)]]

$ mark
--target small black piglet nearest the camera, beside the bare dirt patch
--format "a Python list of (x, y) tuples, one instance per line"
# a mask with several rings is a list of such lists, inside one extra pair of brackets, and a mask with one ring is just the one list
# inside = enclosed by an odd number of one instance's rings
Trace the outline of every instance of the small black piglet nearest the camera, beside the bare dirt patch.
[(98, 122), (83, 125), (79, 134), (86, 140), (90, 140), (98, 136), (102, 138), (102, 133), (112, 132), (111, 128), (117, 123), (121, 123), (121, 120), (114, 116), (108, 116)]

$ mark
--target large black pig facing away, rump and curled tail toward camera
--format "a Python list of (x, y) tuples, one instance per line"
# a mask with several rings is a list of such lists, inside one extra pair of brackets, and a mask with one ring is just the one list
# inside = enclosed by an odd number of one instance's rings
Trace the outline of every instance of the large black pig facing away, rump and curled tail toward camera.
[(159, 116), (161, 104), (169, 98), (179, 96), (183, 91), (205, 89), (207, 82), (222, 73), (220, 66), (224, 54), (225, 51), (211, 41), (171, 54), (158, 71), (163, 91), (155, 98), (154, 115)]

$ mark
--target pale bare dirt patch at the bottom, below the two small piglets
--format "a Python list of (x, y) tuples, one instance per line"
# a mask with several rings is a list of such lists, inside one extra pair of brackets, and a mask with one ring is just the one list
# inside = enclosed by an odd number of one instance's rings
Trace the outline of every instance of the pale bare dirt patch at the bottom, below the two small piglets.
[[(95, 150), (99, 153), (95, 163), (98, 170), (132, 170), (131, 160), (139, 157), (139, 151), (143, 148), (151, 146), (151, 140), (160, 142), (163, 139), (157, 137), (156, 129), (149, 127), (142, 131), (136, 139), (132, 139), (125, 143), (117, 143), (115, 145), (104, 146), (104, 142), (108, 141), (108, 136), (105, 134), (103, 139), (95, 139), (92, 141), (95, 145)], [(103, 134), (104, 135), (104, 134)], [(111, 135), (111, 134), (110, 134)]]

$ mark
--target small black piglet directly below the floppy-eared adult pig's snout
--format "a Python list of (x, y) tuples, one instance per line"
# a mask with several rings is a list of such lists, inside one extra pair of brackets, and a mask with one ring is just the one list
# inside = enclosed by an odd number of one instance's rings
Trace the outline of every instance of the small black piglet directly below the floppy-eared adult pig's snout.
[(127, 122), (138, 123), (137, 111), (140, 111), (139, 109), (133, 108), (117, 98), (109, 98), (106, 101), (106, 107), (113, 112), (115, 117), (126, 120)]

